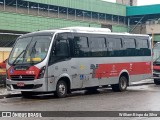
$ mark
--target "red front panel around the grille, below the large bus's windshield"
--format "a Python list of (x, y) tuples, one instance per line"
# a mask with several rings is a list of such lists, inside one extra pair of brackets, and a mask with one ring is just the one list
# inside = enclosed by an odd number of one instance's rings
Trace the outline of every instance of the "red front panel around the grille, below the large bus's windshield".
[[(11, 69), (13, 70), (13, 73), (10, 72), (10, 71), (12, 71)], [(37, 79), (39, 72), (40, 72), (40, 69), (38, 69), (35, 66), (29, 67), (28, 70), (14, 70), (13, 67), (10, 67), (7, 70), (7, 74), (8, 74), (9, 79), (10, 79), (10, 75), (35, 75), (35, 79)]]

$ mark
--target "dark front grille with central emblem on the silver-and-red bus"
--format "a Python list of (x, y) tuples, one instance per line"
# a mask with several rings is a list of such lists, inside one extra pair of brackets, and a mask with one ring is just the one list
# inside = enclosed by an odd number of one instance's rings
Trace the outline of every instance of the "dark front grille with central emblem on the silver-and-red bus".
[(13, 81), (30, 81), (34, 80), (34, 75), (11, 75), (11, 80)]

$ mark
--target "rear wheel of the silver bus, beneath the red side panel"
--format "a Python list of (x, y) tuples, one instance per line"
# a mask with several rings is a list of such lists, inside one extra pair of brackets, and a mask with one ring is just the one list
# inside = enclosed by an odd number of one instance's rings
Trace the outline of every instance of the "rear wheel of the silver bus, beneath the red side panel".
[(128, 86), (128, 80), (125, 76), (121, 76), (119, 78), (119, 83), (115, 85), (111, 85), (112, 90), (114, 92), (123, 92), (127, 89)]

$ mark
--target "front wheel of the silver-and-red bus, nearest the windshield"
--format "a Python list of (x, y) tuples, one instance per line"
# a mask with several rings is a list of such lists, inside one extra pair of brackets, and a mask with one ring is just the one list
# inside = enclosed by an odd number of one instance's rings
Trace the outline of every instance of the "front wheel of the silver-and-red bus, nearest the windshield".
[(57, 98), (64, 98), (67, 96), (67, 83), (64, 80), (60, 80), (57, 83), (55, 96)]

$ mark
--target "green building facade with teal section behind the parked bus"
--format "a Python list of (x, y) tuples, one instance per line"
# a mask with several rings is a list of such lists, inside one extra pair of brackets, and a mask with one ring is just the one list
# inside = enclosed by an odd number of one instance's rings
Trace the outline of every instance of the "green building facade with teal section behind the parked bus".
[(71, 26), (154, 33), (154, 40), (160, 41), (160, 5), (135, 6), (137, 0), (117, 0), (117, 3), (102, 0), (0, 0), (0, 47), (12, 47), (15, 39), (24, 33)]

